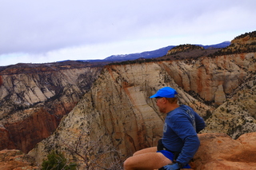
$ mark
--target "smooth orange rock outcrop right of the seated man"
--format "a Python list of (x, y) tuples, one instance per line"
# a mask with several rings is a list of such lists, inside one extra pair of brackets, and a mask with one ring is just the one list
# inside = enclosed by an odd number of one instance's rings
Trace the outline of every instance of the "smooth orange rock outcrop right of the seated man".
[(194, 170), (256, 169), (256, 132), (233, 140), (224, 133), (199, 135), (201, 145), (191, 163)]

